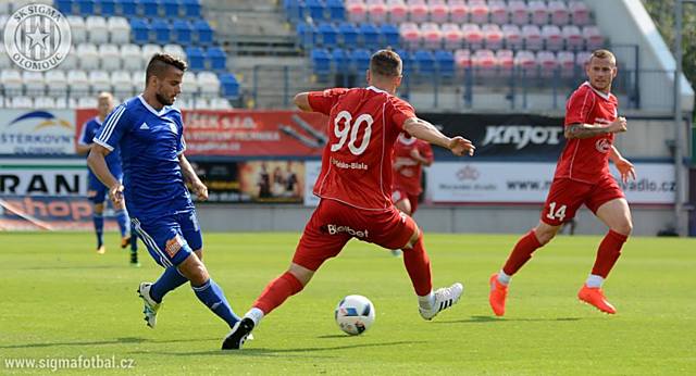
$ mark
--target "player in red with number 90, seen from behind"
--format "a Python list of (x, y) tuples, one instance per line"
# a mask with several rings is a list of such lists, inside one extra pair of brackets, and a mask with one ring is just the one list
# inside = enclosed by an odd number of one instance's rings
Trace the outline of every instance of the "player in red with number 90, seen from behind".
[(401, 59), (394, 51), (375, 52), (366, 78), (368, 88), (336, 88), (295, 97), (300, 110), (328, 115), (330, 139), (314, 185), (321, 201), (288, 271), (265, 287), (241, 324), (227, 335), (223, 349), (239, 349), (264, 315), (300, 292), (322, 263), (336, 256), (351, 238), (403, 250), (403, 264), (423, 318), (432, 319), (459, 300), (463, 291), (459, 283), (433, 292), (423, 235), (415, 222), (391, 203), (391, 158), (394, 142), (402, 131), (447, 148), (455, 155), (471, 155), (474, 146), (462, 137), (443, 135), (394, 96), (401, 84)]

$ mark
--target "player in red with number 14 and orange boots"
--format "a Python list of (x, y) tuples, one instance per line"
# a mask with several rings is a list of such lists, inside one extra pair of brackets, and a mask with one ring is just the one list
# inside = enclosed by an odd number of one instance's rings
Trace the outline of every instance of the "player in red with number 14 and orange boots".
[(605, 313), (617, 310), (601, 290), (604, 280), (621, 255), (633, 224), (623, 191), (609, 172), (611, 160), (621, 178), (635, 179), (633, 164), (612, 145), (614, 134), (626, 130), (626, 120), (618, 116), (618, 101), (611, 90), (617, 76), (617, 60), (610, 51), (593, 52), (586, 65), (588, 80), (581, 85), (566, 106), (564, 136), (554, 181), (542, 211), (539, 224), (514, 246), (502, 270), (490, 276), (489, 303), (498, 316), (505, 314), (510, 277), (532, 258), (532, 252), (548, 243), (561, 225), (575, 216), (585, 204), (609, 231), (599, 245), (597, 258), (577, 298)]

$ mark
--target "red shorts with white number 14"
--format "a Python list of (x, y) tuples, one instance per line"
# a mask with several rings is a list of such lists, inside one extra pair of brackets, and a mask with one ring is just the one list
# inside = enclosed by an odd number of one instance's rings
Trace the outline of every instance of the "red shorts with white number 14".
[(542, 221), (551, 226), (560, 226), (572, 220), (582, 204), (597, 213), (597, 209), (604, 203), (624, 197), (611, 175), (602, 176), (596, 184), (557, 178), (548, 191)]

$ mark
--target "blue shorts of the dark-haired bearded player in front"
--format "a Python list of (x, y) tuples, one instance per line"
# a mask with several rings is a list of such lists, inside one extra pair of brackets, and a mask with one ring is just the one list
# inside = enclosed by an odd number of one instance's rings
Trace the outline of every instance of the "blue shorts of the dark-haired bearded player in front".
[(163, 267), (181, 264), (192, 251), (203, 247), (203, 236), (195, 210), (148, 223), (141, 223), (135, 217), (130, 221), (152, 259)]

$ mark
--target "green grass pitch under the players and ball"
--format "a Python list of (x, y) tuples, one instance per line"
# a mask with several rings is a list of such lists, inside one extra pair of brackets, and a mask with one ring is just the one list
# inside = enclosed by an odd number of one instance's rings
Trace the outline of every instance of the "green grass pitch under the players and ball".
[[(0, 374), (15, 359), (39, 366), (83, 356), (122, 360), (128, 369), (60, 374), (696, 374), (696, 240), (632, 238), (606, 284), (619, 314), (575, 293), (598, 237), (559, 237), (539, 250), (511, 287), (505, 318), (493, 316), (487, 279), (517, 236), (427, 235), (435, 286), (461, 280), (464, 297), (424, 322), (400, 259), (352, 241), (299, 296), (264, 319), (240, 352), (219, 350), (226, 325), (188, 287), (169, 294), (157, 329), (145, 326), (135, 289), (160, 268), (141, 253), (127, 264), (116, 235), (104, 255), (91, 234), (0, 233)], [(298, 234), (207, 234), (213, 278), (244, 314), (287, 266)], [(346, 294), (369, 297), (374, 326), (348, 337), (334, 323)], [(113, 358), (112, 358), (113, 356)]]

